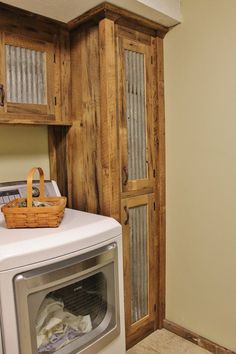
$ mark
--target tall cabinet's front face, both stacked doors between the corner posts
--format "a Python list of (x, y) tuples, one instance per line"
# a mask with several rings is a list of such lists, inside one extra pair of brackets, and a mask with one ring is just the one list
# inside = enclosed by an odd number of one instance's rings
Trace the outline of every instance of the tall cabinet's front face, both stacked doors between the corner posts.
[(157, 63), (153, 37), (118, 28), (121, 222), (127, 347), (158, 323)]

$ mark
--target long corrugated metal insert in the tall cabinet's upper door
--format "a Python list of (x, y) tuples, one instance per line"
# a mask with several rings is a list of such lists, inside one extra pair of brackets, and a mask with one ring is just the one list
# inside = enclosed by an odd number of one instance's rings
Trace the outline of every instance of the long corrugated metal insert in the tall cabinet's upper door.
[(125, 50), (129, 180), (147, 177), (144, 54)]

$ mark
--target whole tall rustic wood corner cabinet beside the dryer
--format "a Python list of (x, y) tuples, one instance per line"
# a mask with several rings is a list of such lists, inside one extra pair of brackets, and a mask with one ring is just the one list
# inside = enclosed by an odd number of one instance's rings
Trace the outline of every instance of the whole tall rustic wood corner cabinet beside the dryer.
[(166, 29), (109, 4), (70, 26), (70, 206), (122, 224), (130, 347), (164, 317)]

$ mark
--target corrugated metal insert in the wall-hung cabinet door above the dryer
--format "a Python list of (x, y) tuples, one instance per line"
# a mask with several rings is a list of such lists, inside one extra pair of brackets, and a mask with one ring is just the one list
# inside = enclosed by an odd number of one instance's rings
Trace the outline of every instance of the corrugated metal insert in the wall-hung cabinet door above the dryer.
[(5, 49), (7, 101), (46, 104), (45, 53), (8, 44)]

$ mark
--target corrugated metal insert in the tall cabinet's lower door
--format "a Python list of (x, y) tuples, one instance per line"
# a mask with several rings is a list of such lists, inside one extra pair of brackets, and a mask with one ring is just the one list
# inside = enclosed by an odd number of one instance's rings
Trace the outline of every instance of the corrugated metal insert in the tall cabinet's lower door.
[(148, 314), (148, 226), (147, 206), (129, 209), (131, 265), (131, 321)]

